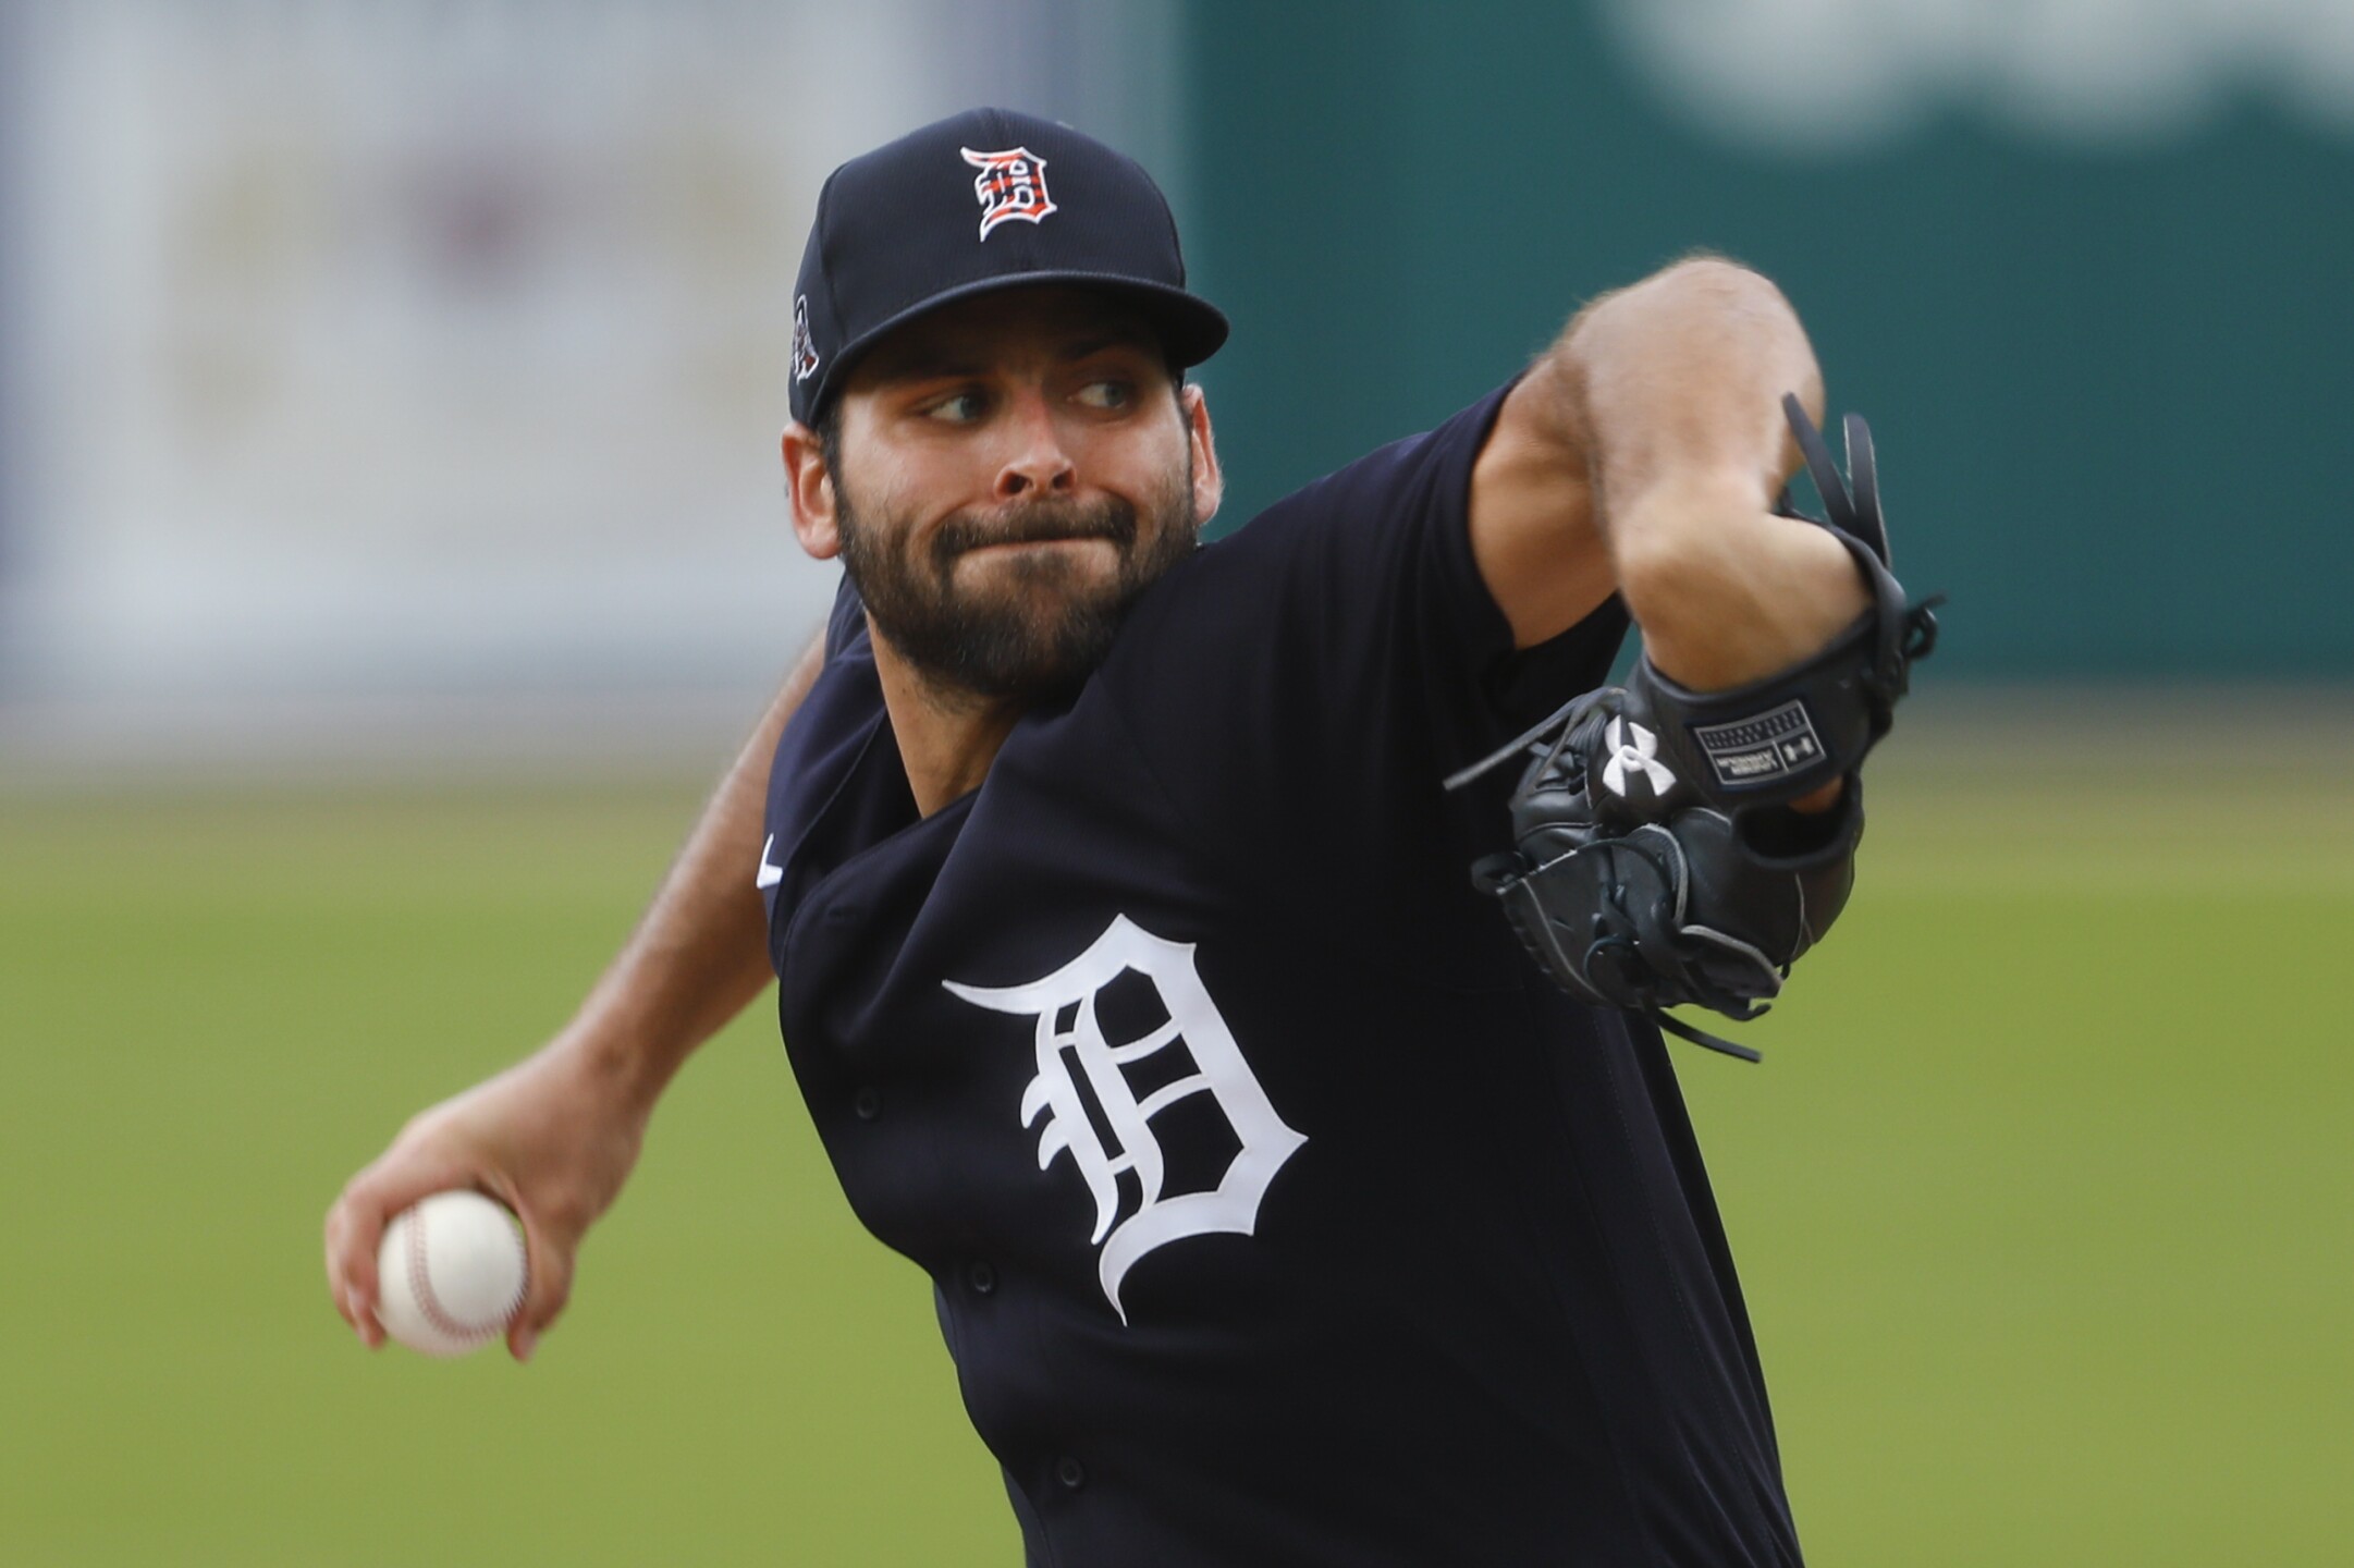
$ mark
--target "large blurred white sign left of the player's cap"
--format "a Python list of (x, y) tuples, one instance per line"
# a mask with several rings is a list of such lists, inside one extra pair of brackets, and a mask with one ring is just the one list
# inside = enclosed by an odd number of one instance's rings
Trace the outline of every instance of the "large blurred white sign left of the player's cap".
[(1050, 12), (21, 7), (0, 692), (772, 680), (831, 596), (777, 459), (817, 186), (1076, 118)]

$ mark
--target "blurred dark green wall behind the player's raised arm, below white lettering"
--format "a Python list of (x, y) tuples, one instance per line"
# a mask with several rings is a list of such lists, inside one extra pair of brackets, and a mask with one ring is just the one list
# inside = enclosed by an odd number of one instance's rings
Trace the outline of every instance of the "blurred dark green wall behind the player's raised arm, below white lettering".
[(2354, 676), (2354, 132), (2246, 94), (2142, 151), (1944, 113), (1798, 160), (1695, 129), (1580, 5), (1186, 19), (1229, 525), (1714, 247), (1874, 421), (1897, 567), (1954, 598), (1940, 673)]

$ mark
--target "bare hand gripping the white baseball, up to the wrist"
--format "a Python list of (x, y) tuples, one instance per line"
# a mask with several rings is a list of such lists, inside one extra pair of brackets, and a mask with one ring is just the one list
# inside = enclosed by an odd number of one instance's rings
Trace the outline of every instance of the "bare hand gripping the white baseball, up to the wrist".
[(581, 1234), (638, 1163), (650, 1111), (621, 1074), (567, 1043), (421, 1111), (327, 1210), (334, 1309), (370, 1349), (384, 1344), (377, 1323), (384, 1227), (428, 1194), (471, 1187), (523, 1217), (532, 1283), (506, 1328), (506, 1349), (530, 1361), (572, 1295)]

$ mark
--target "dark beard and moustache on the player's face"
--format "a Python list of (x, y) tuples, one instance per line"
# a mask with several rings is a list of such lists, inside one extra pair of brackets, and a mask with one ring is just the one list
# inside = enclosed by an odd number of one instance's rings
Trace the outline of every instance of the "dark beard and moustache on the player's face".
[[(1191, 452), (1177, 478), (1151, 499), (1151, 527), (1142, 527), (1137, 509), (1118, 497), (1033, 501), (989, 516), (960, 511), (942, 523), (918, 560), (899, 549), (906, 530), (873, 530), (857, 516), (836, 471), (843, 570), (866, 600), (876, 633), (942, 695), (1062, 697), (1111, 655), (1111, 638), (1144, 589), (1193, 553), (1201, 525), (1193, 520)], [(1109, 539), (1121, 565), (1109, 584), (1083, 586), (1069, 560), (1017, 556), (1005, 593), (958, 591), (956, 563), (965, 551), (1026, 539)]]

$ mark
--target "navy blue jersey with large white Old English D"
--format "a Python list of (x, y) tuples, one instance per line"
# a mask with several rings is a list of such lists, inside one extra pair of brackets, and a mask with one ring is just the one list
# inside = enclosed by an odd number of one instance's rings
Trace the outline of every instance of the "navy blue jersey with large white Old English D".
[(1499, 403), (1168, 572), (932, 817), (847, 591), (777, 746), (786, 1050), (1031, 1563), (1798, 1561), (1660, 1036), (1474, 892), (1511, 779), (1438, 784), (1627, 631), (1511, 650)]

